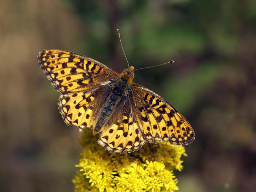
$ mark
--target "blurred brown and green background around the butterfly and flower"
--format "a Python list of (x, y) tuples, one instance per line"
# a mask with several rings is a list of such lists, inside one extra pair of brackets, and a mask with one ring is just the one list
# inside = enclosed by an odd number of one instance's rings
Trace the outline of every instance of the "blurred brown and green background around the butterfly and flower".
[(59, 93), (39, 68), (45, 48), (121, 72), (116, 34), (134, 81), (190, 122), (180, 191), (256, 189), (255, 0), (1, 0), (0, 191), (73, 191), (81, 133), (58, 111)]

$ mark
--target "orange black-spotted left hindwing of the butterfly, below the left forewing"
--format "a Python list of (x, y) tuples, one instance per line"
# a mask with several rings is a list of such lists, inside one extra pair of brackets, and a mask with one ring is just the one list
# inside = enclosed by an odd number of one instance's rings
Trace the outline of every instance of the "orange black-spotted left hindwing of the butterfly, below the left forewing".
[(103, 85), (87, 92), (61, 94), (58, 105), (62, 118), (68, 125), (94, 128), (110, 92), (111, 87)]

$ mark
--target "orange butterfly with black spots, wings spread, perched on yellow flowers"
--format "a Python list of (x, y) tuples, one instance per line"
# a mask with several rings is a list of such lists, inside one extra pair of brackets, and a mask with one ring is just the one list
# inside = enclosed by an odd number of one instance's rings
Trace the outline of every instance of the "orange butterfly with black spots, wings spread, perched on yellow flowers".
[(78, 131), (92, 128), (111, 153), (139, 150), (147, 141), (188, 145), (195, 133), (188, 121), (155, 92), (132, 82), (134, 67), (121, 74), (89, 57), (45, 49), (38, 64), (60, 92), (59, 111)]

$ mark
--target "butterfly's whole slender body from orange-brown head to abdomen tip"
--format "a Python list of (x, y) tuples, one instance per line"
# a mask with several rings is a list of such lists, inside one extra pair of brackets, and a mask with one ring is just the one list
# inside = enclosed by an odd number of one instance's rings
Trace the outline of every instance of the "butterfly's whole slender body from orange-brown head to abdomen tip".
[(121, 74), (116, 77), (114, 81), (108, 84), (109, 86), (111, 86), (112, 90), (95, 125), (95, 128), (93, 130), (94, 134), (101, 132), (102, 126), (106, 123), (106, 120), (114, 111), (114, 108), (120, 102), (126, 90), (131, 86), (132, 79), (134, 77), (133, 72), (134, 67), (131, 66), (129, 68), (126, 68)]

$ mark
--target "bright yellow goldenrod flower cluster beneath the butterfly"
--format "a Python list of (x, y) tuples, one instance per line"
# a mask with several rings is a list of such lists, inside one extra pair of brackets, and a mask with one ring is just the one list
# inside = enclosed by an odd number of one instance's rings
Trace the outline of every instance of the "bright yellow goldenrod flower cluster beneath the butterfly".
[(179, 190), (172, 170), (183, 168), (180, 157), (187, 155), (182, 146), (146, 143), (133, 153), (109, 153), (90, 130), (83, 132), (81, 145), (79, 171), (72, 180), (76, 192)]

